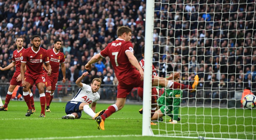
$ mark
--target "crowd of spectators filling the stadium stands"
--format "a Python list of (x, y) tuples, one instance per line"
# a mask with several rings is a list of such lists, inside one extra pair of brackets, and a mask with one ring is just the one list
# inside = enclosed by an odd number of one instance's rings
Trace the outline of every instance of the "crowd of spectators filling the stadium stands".
[[(180, 71), (184, 84), (197, 73), (201, 78), (199, 87), (255, 88), (256, 18), (255, 4), (250, 3), (253, 0), (247, 0), (249, 4), (235, 0), (232, 5), (214, 0), (177, 1), (185, 5), (158, 1), (153, 64), (160, 77), (165, 77), (166, 71)], [(31, 46), (33, 35), (41, 36), (41, 47), (45, 49), (53, 48), (53, 41), (60, 39), (66, 80), (75, 82), (86, 71), (87, 61), (115, 40), (117, 28), (123, 25), (132, 29), (134, 54), (141, 60), (145, 12), (145, 0), (0, 0), (0, 65), (6, 67), (12, 62), (18, 36), (23, 37), (25, 48)], [(0, 82), (7, 82), (14, 69), (0, 73)], [(103, 84), (118, 84), (108, 58), (93, 65), (82, 82), (88, 84), (96, 77)]]

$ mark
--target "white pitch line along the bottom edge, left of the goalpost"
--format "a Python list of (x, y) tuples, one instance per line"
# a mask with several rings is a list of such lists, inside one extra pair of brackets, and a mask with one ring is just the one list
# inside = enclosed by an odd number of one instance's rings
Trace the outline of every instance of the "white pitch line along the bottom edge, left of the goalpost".
[(45, 139), (80, 139), (80, 138), (108, 138), (108, 137), (142, 137), (142, 135), (102, 135), (102, 136), (75, 136), (75, 137), (20, 138), (20, 139), (0, 139), (0, 140), (45, 140)]

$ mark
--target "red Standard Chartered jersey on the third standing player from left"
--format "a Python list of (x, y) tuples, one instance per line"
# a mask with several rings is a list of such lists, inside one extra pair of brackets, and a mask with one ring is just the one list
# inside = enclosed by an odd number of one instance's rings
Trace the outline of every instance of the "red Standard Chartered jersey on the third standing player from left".
[[(59, 63), (65, 63), (64, 54), (62, 52), (55, 53), (54, 48), (47, 50), (51, 65), (51, 75), (52, 77), (58, 78), (59, 76)], [(45, 70), (46, 72), (46, 70)], [(47, 72), (46, 72), (47, 73)]]

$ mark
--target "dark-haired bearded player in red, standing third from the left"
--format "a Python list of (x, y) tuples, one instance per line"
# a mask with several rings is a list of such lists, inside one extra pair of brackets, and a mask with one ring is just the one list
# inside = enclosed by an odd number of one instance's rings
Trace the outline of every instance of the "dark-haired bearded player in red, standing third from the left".
[(46, 109), (45, 112), (51, 112), (50, 111), (50, 104), (53, 100), (53, 94), (54, 90), (57, 86), (58, 76), (59, 76), (59, 64), (61, 64), (61, 71), (63, 74), (62, 82), (66, 82), (66, 67), (65, 67), (65, 58), (64, 54), (60, 52), (61, 49), (61, 40), (56, 39), (54, 40), (54, 48), (47, 50), (50, 65), (51, 65), (51, 75), (47, 76), (48, 70), (46, 69), (46, 66), (43, 64), (43, 68), (45, 69), (46, 74)]

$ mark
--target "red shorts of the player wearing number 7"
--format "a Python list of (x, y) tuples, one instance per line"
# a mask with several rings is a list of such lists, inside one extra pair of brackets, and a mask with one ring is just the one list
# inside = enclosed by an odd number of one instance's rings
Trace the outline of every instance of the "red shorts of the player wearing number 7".
[[(141, 74), (139, 71), (136, 71), (136, 77), (128, 77), (125, 80), (119, 82), (117, 86), (117, 98), (126, 98), (127, 95), (130, 94), (131, 90), (134, 87), (142, 87), (143, 88), (143, 81), (141, 81)], [(154, 75), (152, 75), (152, 82)]]

